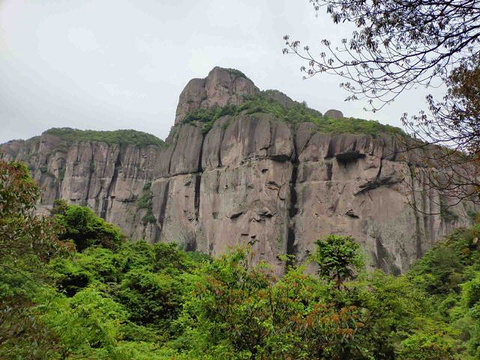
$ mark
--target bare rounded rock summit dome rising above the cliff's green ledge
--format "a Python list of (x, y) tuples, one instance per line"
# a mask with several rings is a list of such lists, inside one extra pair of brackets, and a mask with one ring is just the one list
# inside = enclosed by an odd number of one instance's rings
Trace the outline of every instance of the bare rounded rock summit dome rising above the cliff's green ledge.
[(245, 95), (254, 95), (259, 91), (241, 71), (216, 66), (206, 78), (192, 79), (185, 86), (178, 101), (175, 124), (192, 110), (239, 105)]

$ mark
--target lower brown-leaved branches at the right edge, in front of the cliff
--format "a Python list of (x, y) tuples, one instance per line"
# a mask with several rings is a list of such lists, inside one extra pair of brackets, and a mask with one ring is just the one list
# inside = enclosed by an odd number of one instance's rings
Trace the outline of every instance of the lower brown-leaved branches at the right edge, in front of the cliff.
[(422, 111), (410, 121), (403, 117), (415, 138), (439, 145), (423, 153), (426, 166), (418, 169), (418, 177), (423, 178), (426, 191), (439, 190), (451, 205), (465, 199), (479, 203), (480, 57), (453, 70), (446, 85), (447, 94), (441, 101), (427, 96), (430, 115)]

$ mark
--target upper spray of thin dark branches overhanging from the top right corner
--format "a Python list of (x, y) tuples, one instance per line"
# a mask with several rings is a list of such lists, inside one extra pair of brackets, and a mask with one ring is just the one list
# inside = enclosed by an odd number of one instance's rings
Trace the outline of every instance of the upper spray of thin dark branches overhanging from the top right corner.
[(302, 71), (308, 77), (331, 73), (344, 78), (342, 87), (352, 94), (348, 99), (366, 99), (374, 110), (406, 89), (441, 82), (478, 55), (475, 0), (310, 2), (316, 11), (325, 8), (334, 23), (353, 23), (355, 30), (339, 46), (322, 40), (318, 57), (285, 36), (284, 53), (305, 60)]

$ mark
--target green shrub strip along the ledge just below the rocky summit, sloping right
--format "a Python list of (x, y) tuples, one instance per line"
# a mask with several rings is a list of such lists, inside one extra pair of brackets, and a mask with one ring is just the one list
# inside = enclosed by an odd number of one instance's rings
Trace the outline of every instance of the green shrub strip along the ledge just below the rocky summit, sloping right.
[(230, 115), (266, 113), (272, 114), (280, 121), (290, 124), (311, 122), (315, 124), (318, 131), (328, 134), (368, 134), (373, 137), (382, 133), (391, 135), (404, 135), (404, 132), (397, 127), (383, 125), (377, 121), (362, 120), (355, 118), (332, 119), (322, 115), (320, 112), (310, 109), (306, 104), (295, 103), (286, 107), (276, 101), (272, 91), (262, 91), (260, 94), (247, 97), (241, 105), (227, 105), (225, 107), (211, 107), (207, 109), (195, 109), (188, 113), (183, 119), (184, 123), (202, 126), (202, 132), (207, 133), (219, 118)]

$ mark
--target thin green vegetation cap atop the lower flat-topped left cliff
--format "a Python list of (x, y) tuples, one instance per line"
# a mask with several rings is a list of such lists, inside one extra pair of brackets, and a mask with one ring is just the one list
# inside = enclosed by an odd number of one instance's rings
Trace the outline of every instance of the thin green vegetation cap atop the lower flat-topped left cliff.
[(165, 145), (163, 140), (160, 140), (156, 136), (136, 130), (96, 131), (71, 128), (52, 128), (45, 131), (44, 134), (58, 136), (67, 142), (99, 141), (107, 144), (127, 144), (138, 146)]

